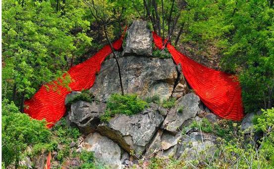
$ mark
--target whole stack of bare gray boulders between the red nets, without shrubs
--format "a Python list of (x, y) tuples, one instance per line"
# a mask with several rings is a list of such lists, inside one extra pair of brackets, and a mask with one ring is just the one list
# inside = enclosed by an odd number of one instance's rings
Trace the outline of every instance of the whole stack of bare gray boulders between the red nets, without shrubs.
[[(106, 101), (112, 93), (120, 93), (119, 75), (112, 55), (105, 60), (96, 82), (89, 92), (96, 102), (77, 101), (68, 104), (67, 119), (85, 134), (77, 151), (94, 151), (95, 156), (113, 169), (130, 166), (138, 158), (173, 156), (203, 149), (203, 142), (214, 149), (216, 136), (197, 132), (189, 127), (205, 116), (218, 121), (189, 89), (180, 69), (172, 58), (159, 58), (153, 52), (152, 34), (145, 21), (134, 21), (127, 31), (123, 51), (117, 52), (125, 93), (136, 93), (140, 98), (159, 96), (160, 101), (175, 98), (171, 108), (150, 103), (148, 108), (132, 116), (116, 115), (109, 122), (101, 122)], [(70, 97), (72, 92), (67, 97)], [(106, 144), (109, 143), (109, 144)], [(181, 144), (186, 143), (186, 144)], [(196, 148), (193, 148), (193, 144)], [(106, 154), (106, 156), (102, 155)], [(194, 157), (188, 156), (190, 159)]]

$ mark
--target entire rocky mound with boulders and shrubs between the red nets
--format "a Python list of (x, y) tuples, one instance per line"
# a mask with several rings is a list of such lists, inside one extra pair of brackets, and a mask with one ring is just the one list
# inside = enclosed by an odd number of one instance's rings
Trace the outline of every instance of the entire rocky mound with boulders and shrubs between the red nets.
[(20, 165), (43, 169), (49, 151), (53, 169), (226, 168), (240, 159), (234, 151), (245, 164), (244, 153), (256, 154), (250, 145), (262, 137), (249, 129), (262, 112), (248, 114), (241, 126), (220, 119), (189, 87), (180, 65), (154, 46), (147, 23), (134, 21), (115, 52), (125, 95), (111, 54), (92, 88), (66, 96), (67, 113), (52, 140), (28, 147)]

